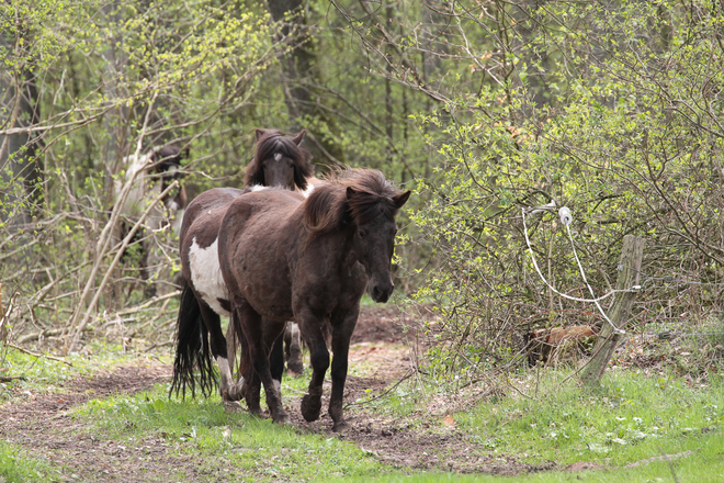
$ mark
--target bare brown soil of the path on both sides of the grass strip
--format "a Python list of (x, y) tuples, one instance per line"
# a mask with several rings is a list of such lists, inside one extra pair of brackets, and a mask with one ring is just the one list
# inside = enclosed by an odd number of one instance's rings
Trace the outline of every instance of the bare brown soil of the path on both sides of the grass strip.
[[(350, 364), (364, 363), (371, 369), (369, 375), (351, 375), (347, 382), (346, 414), (351, 429), (341, 436), (333, 435), (326, 415), (315, 423), (304, 422), (299, 401), (286, 396), (292, 424), (303, 431), (352, 441), (381, 462), (406, 470), (520, 474), (555, 468), (553, 462), (523, 463), (514, 456), (501, 456), (472, 442), (455, 427), (454, 420), (444, 419), (449, 411), (445, 407), (432, 415), (421, 413), (410, 423), (376, 415), (370, 406), (354, 403), (370, 394), (384, 396), (401, 379), (412, 374), (416, 355), (426, 344), (420, 317), (404, 314), (394, 306), (363, 308), (352, 339)], [(166, 482), (176, 481), (176, 474), (185, 475), (184, 481), (227, 481), (228, 474), (177, 453), (163, 439), (149, 437), (133, 447), (123, 446), (103, 435), (93, 436), (67, 413), (89, 400), (115, 393), (134, 394), (168, 382), (170, 377), (170, 366), (148, 359), (134, 367), (77, 379), (66, 384), (61, 394), (27, 393), (24, 402), (3, 407), (0, 438), (34, 458), (73, 469), (72, 474), (64, 476), (65, 481)], [(325, 391), (329, 394), (329, 387)], [(244, 476), (254, 480), (252, 474)]]

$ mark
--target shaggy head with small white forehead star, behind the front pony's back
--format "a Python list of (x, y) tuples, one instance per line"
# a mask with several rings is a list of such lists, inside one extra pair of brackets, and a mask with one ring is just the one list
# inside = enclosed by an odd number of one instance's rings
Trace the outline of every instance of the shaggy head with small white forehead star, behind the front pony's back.
[(257, 130), (257, 151), (247, 167), (245, 184), (305, 190), (314, 169), (302, 146), (304, 133), (285, 136), (278, 130)]

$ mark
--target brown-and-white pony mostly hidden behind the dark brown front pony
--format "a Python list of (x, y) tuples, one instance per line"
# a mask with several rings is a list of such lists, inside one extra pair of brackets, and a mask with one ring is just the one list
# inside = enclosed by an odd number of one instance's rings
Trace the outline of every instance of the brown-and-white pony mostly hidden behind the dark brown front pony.
[[(304, 131), (295, 136), (285, 136), (276, 130), (257, 130), (257, 149), (246, 171), (247, 182), (306, 189), (307, 178), (314, 170), (309, 154), (301, 146), (303, 138)], [(195, 395), (193, 370), (197, 366), (201, 392), (204, 395), (211, 393), (216, 384), (211, 351), (220, 371), (222, 397), (226, 401), (241, 397), (242, 381), (234, 383), (226, 338), (220, 328), (219, 316), (230, 315), (230, 304), (218, 266), (217, 236), (231, 202), (244, 193), (259, 189), (263, 188), (215, 188), (196, 196), (185, 211), (179, 235), (185, 283), (179, 307), (171, 392), (178, 394), (181, 391), (185, 395), (189, 386), (192, 396)], [(280, 370), (283, 370), (283, 359), (281, 364)]]

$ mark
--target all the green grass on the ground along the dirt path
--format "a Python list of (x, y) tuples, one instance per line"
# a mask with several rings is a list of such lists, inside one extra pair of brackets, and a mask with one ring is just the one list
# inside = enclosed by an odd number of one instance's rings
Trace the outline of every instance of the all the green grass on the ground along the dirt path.
[[(92, 357), (67, 358), (72, 367), (9, 350), (3, 373), (24, 375), (26, 381), (0, 385), (0, 412), (8, 402), (26, 397), (23, 394), (27, 391), (59, 393), (72, 378), (146, 359), (112, 347), (91, 350)], [(364, 377), (367, 370), (364, 364), (350, 367), (353, 375)], [(293, 426), (272, 425), (244, 411), (228, 412), (218, 396), (169, 400), (166, 385), (133, 396), (91, 400), (71, 414), (80, 430), (95, 438), (128, 447), (150, 440), (166, 447), (171, 458), (199, 461), (202, 481), (206, 476), (214, 480), (219, 471), (224, 478), (253, 481), (332, 482), (342, 476), (351, 482), (724, 481), (724, 378), (710, 373), (706, 384), (701, 384), (675, 373), (647, 377), (640, 371), (610, 370), (601, 387), (590, 391), (570, 380), (564, 382), (568, 374), (566, 370), (550, 370), (536, 381), (533, 373), (522, 373), (510, 381), (519, 392), (509, 390), (456, 413), (444, 412), (437, 404), (464, 396), (459, 390), (409, 379), (385, 397), (363, 401), (365, 404), (348, 411), (367, 412), (412, 430), (440, 434), (450, 433), (443, 424), (443, 416), (450, 415), (455, 422), (454, 435), (470, 442), (471, 458), (513, 457), (530, 464), (554, 461), (558, 469), (585, 461), (601, 470), (546, 471), (514, 478), (407, 474), (409, 470), (378, 461), (370, 448)], [(285, 378), (284, 392), (298, 397), (306, 391), (309, 375), (307, 369), (303, 377)], [(477, 385), (466, 391), (471, 394), (485, 389)], [(450, 457), (445, 451), (440, 448), (437, 454), (441, 461)], [(663, 454), (677, 457), (670, 462), (656, 459)], [(183, 468), (177, 470), (178, 480), (183, 480)], [(57, 481), (59, 471), (49, 461), (29, 458), (27, 448), (0, 441), (0, 482)], [(63, 474), (71, 472), (65, 469)]]

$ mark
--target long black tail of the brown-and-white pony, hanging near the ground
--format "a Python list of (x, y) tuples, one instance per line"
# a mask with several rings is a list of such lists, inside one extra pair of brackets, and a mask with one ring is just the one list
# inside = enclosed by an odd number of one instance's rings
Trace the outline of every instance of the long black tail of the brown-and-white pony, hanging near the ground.
[(216, 379), (208, 347), (208, 329), (201, 316), (201, 307), (191, 287), (184, 283), (179, 306), (176, 335), (176, 360), (173, 361), (173, 382), (169, 396), (176, 392), (186, 396), (186, 385), (191, 387), (191, 397), (195, 397), (196, 378), (194, 368), (199, 368), (199, 385), (207, 396), (214, 389)]

